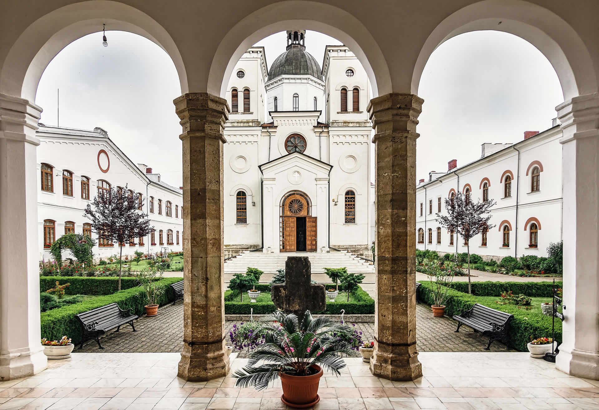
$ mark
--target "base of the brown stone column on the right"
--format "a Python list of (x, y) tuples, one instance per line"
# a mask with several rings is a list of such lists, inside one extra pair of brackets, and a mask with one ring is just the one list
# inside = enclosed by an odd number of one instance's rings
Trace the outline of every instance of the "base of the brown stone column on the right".
[(376, 343), (370, 359), (370, 372), (389, 380), (415, 380), (422, 377), (416, 344), (412, 346), (385, 346)]

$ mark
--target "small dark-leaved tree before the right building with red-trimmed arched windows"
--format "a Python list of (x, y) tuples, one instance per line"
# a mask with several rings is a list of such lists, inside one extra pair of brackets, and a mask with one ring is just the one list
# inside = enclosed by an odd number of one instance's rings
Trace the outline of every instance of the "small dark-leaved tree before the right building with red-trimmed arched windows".
[(489, 209), (495, 205), (495, 200), (476, 203), (470, 198), (470, 194), (454, 195), (445, 198), (445, 210), (447, 215), (437, 213), (437, 222), (441, 227), (454, 231), (464, 238), (468, 250), (468, 293), (472, 293), (470, 286), (470, 239), (480, 233), (491, 230), (495, 225), (489, 224), (491, 215)]

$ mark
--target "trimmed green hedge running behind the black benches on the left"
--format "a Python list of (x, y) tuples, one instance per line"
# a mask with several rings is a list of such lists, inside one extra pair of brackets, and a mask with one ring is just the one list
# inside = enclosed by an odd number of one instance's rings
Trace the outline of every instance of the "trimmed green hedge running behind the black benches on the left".
[[(102, 279), (113, 278), (69, 278), (69, 279), (95, 279), (98, 283)], [(129, 278), (127, 278), (129, 279)], [(159, 305), (165, 305), (172, 302), (175, 298), (173, 288), (168, 285), (179, 282), (181, 278), (165, 278), (159, 283), (166, 287), (166, 291), (158, 300)], [(93, 283), (93, 282), (90, 282)], [(72, 282), (71, 282), (72, 286)], [(70, 287), (69, 287), (70, 288)], [(68, 288), (67, 288), (68, 289)], [(96, 309), (117, 303), (121, 309), (133, 309), (135, 315), (143, 315), (145, 302), (145, 293), (143, 288), (134, 287), (119, 291), (115, 294), (98, 296), (93, 299), (85, 300), (81, 303), (59, 307), (48, 312), (41, 313), (41, 337), (46, 337), (48, 340), (59, 340), (62, 336), (69, 336), (72, 343), (81, 342), (81, 325), (75, 318), (79, 313), (87, 312), (88, 310)]]

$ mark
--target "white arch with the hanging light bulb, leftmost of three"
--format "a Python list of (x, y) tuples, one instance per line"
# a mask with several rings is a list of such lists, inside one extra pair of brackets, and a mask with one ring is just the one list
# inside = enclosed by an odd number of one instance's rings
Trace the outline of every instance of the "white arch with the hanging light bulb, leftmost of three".
[(35, 101), (46, 67), (68, 44), (87, 34), (128, 31), (153, 41), (171, 57), (179, 74), (181, 94), (189, 92), (183, 59), (170, 34), (137, 8), (110, 0), (90, 0), (51, 11), (29, 25), (15, 41), (0, 67), (0, 93)]

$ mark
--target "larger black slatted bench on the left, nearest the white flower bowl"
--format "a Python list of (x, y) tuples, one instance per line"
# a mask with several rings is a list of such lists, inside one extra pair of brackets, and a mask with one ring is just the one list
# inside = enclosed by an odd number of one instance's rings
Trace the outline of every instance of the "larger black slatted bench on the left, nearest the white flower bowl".
[(99, 348), (104, 349), (100, 344), (100, 336), (115, 327), (117, 328), (116, 331), (119, 331), (121, 325), (124, 324), (131, 325), (133, 331), (136, 331), (133, 321), (139, 316), (133, 314), (133, 309), (123, 310), (116, 303), (111, 303), (110, 305), (79, 313), (75, 317), (81, 323), (82, 328), (79, 348), (83, 347), (83, 342), (87, 340), (86, 336), (90, 336), (98, 342)]

